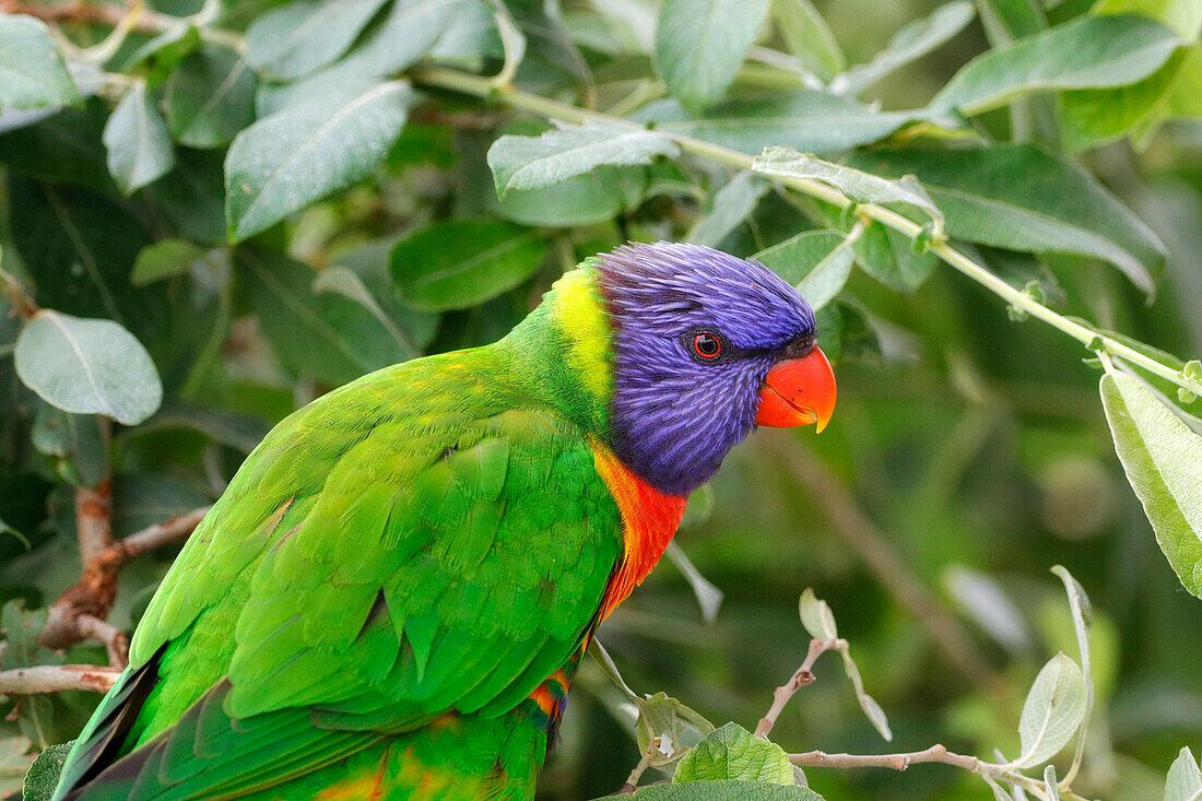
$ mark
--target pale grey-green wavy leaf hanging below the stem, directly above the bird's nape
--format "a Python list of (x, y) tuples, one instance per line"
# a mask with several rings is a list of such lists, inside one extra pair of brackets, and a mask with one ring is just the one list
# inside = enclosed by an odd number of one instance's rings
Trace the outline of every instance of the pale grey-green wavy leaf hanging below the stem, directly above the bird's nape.
[(502, 136), (488, 149), (498, 197), (511, 189), (542, 189), (605, 165), (650, 164), (680, 149), (664, 134), (589, 121), (542, 136)]

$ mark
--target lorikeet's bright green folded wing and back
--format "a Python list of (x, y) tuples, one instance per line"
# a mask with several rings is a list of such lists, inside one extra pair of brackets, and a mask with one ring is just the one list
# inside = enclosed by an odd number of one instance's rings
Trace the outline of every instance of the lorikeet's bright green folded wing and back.
[(157, 683), (114, 689), (56, 797), (267, 787), (446, 711), (505, 712), (569, 659), (619, 512), (575, 425), (486, 358), (381, 370), (268, 435), (135, 635), (129, 676)]

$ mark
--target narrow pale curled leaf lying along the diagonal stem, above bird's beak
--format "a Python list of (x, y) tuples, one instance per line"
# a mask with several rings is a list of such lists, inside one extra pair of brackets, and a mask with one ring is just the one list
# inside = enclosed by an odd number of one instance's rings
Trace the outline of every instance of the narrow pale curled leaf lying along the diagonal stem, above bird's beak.
[(755, 158), (751, 168), (766, 176), (808, 178), (838, 189), (857, 203), (905, 203), (926, 212), (936, 229), (944, 227), (944, 215), (914, 176), (889, 180), (855, 167), (844, 167), (789, 148), (768, 148)]

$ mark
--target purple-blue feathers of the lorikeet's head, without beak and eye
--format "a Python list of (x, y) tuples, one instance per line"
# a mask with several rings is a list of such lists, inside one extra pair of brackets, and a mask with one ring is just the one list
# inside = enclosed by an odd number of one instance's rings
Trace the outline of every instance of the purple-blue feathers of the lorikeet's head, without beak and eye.
[[(600, 257), (613, 326), (612, 446), (661, 492), (686, 496), (755, 427), (781, 358), (814, 346), (810, 305), (763, 265), (712, 248), (631, 244)], [(694, 350), (715, 336), (721, 354)]]

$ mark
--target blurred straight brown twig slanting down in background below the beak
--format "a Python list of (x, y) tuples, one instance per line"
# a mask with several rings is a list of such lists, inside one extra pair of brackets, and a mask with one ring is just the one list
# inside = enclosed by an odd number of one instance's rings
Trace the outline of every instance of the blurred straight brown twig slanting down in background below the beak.
[(906, 566), (885, 534), (861, 510), (851, 492), (819, 459), (796, 447), (796, 444), (776, 439), (766, 441), (763, 446), (776, 453), (810, 488), (811, 497), (834, 523), (835, 533), (859, 553), (877, 581), (918, 619), (948, 661), (974, 684), (981, 686), (993, 678), (993, 669), (977, 653), (972, 640)]

